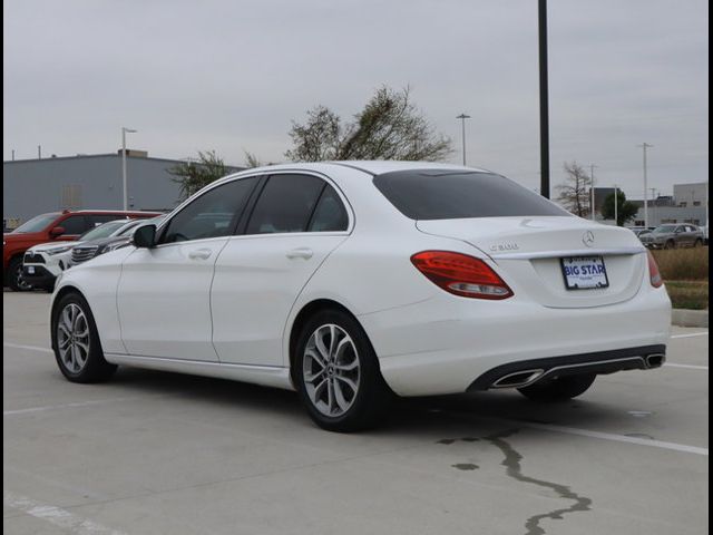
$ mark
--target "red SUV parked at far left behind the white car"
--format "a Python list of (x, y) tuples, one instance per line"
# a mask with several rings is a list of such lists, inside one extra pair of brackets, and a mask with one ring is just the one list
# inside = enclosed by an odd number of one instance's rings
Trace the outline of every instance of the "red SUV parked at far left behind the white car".
[(74, 241), (90, 228), (123, 217), (156, 217), (158, 212), (124, 212), (120, 210), (81, 210), (38, 215), (9, 234), (2, 234), (2, 273), (4, 285), (14, 291), (29, 290), (22, 281), (22, 255), (40, 243), (56, 240)]

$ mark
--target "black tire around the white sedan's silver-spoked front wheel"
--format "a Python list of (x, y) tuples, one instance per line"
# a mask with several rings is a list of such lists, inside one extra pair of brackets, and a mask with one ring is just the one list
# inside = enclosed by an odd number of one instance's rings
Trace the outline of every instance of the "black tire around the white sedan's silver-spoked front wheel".
[[(75, 309), (70, 308), (74, 307)], [(88, 332), (87, 337), (77, 335), (77, 340), (86, 340), (86, 346), (88, 347), (88, 351), (84, 351), (80, 348), (77, 349), (78, 357), (75, 357), (72, 353), (72, 349), (69, 349), (69, 352), (64, 351), (60, 348), (60, 344), (65, 346), (67, 342), (67, 335), (64, 332), (60, 332), (61, 329), (59, 327), (60, 317), (67, 310), (80, 310), (84, 322), (78, 320), (77, 322), (72, 322), (76, 324), (76, 329), (79, 330), (82, 327), (86, 327), (86, 331)], [(65, 324), (65, 323), (62, 323)], [(55, 310), (52, 312), (52, 350), (55, 351), (55, 359), (57, 360), (57, 366), (62, 374), (71, 382), (99, 382), (109, 379), (117, 369), (116, 364), (110, 364), (104, 358), (104, 351), (101, 350), (101, 342), (99, 340), (99, 333), (97, 332), (97, 324), (94, 320), (94, 315), (91, 314), (91, 309), (89, 304), (85, 300), (84, 296), (79, 293), (68, 293), (62, 296)], [(81, 329), (85, 331), (85, 329)], [(84, 362), (80, 363), (84, 356)], [(72, 366), (76, 363), (77, 366)]]

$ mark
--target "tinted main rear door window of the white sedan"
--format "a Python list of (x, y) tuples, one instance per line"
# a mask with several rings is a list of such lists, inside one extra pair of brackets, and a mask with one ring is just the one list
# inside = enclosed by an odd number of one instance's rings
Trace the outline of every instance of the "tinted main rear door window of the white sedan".
[(247, 222), (246, 234), (305, 232), (326, 183), (311, 175), (273, 175)]

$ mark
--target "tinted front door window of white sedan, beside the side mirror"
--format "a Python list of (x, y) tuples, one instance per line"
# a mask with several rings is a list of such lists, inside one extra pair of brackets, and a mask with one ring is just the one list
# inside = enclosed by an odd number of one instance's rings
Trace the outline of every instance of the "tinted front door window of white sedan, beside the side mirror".
[(256, 183), (257, 177), (241, 178), (195, 198), (170, 220), (160, 243), (233, 234)]

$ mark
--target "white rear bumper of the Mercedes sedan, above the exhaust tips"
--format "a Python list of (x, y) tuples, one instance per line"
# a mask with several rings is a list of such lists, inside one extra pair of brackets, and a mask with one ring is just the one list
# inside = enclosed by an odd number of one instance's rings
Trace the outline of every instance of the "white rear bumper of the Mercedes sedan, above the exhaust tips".
[[(485, 380), (478, 379), (502, 366), (517, 371), (545, 359), (534, 368), (540, 369), (547, 359), (580, 363), (579, 359), (592, 354), (607, 360), (607, 354), (641, 353), (646, 347), (655, 347), (652, 353), (663, 353), (661, 347), (671, 331), (671, 301), (665, 288), (642, 286), (628, 301), (578, 309), (546, 308), (517, 299), (476, 302), (443, 292), (359, 320), (394, 392), (457, 393), (480, 389)], [(638, 366), (641, 360), (634, 360), (621, 369), (629, 364), (644, 368)], [(616, 371), (609, 367), (602, 372), (607, 370)]]

